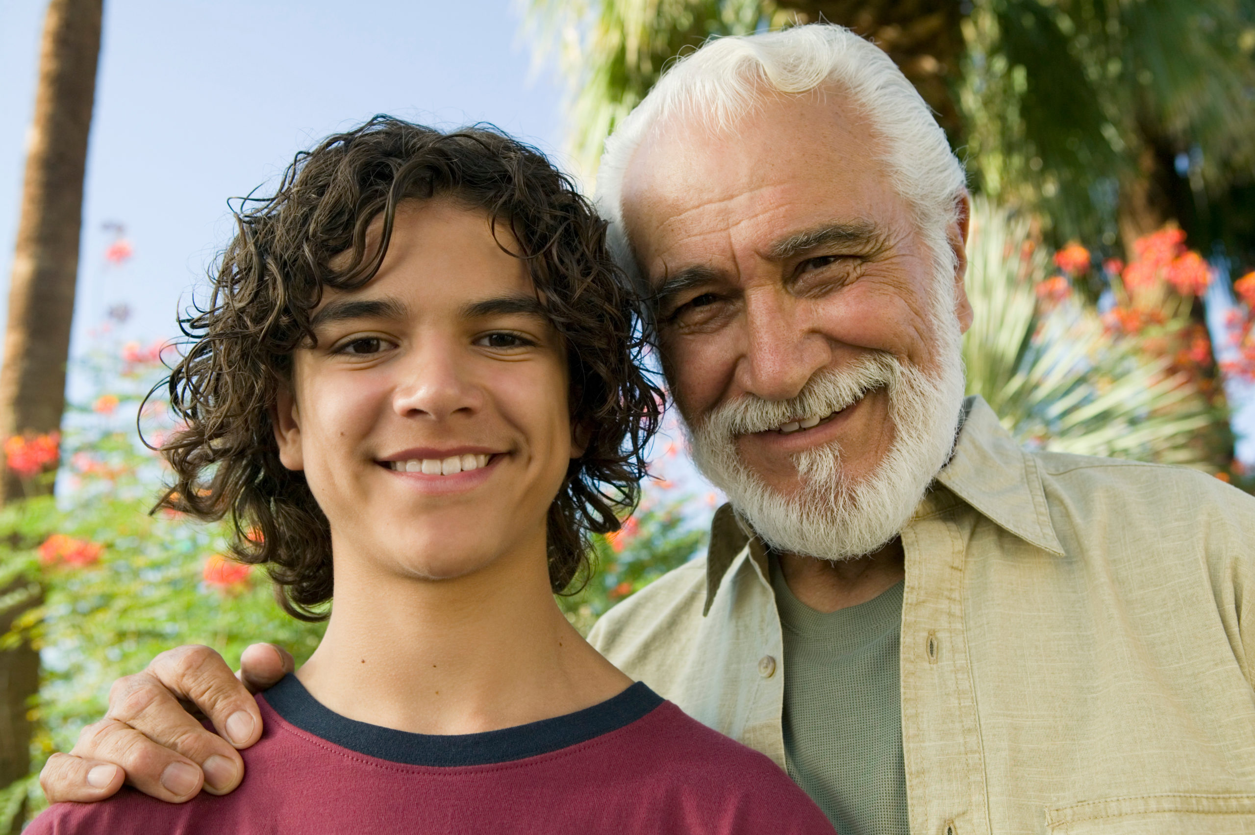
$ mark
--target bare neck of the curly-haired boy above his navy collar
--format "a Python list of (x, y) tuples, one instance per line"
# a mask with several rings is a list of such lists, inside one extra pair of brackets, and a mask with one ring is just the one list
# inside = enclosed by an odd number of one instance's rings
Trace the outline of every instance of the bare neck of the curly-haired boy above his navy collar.
[(341, 716), (478, 733), (572, 713), (631, 683), (567, 623), (536, 555), (439, 581), (341, 574), (326, 634), (296, 673)]

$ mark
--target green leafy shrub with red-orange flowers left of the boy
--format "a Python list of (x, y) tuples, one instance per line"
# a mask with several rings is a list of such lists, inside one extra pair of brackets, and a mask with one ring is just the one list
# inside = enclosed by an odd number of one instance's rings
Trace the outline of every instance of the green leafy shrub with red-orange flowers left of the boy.
[[(88, 360), (97, 389), (88, 399), (108, 413), (85, 403), (68, 409), (60, 495), (0, 510), (0, 581), (25, 576), (45, 595), (5, 637), (10, 644), (33, 640), (43, 662), (30, 713), (36, 722), (33, 775), (49, 753), (68, 751), (79, 730), (103, 716), (115, 678), (143, 669), (166, 649), (201, 643), (235, 665), (247, 644), (269, 640), (300, 662), (321, 635), (320, 624), (282, 613), (257, 570), (235, 583), (213, 575), (217, 585), (206, 580), (206, 560), (225, 552), (221, 525), (149, 515), (163, 463), (138, 442), (132, 421), (162, 373), (156, 353), (136, 362), (104, 353)], [(146, 408), (142, 423), (149, 437), (168, 431), (163, 414), (159, 402)], [(56, 556), (49, 545), (54, 535), (70, 537), (79, 550)], [(23, 792), (29, 792), (30, 814), (38, 812), (43, 794), (34, 780), (10, 787), (0, 804), (11, 801), (16, 811)]]

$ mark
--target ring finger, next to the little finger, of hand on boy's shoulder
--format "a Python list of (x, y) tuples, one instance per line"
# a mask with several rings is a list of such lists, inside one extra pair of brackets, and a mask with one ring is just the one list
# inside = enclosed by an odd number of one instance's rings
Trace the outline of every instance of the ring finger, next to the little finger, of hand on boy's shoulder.
[[(85, 751), (94, 756), (87, 756)], [(128, 784), (171, 804), (191, 800), (203, 785), (200, 766), (117, 719), (83, 728), (70, 753), (122, 766)]]

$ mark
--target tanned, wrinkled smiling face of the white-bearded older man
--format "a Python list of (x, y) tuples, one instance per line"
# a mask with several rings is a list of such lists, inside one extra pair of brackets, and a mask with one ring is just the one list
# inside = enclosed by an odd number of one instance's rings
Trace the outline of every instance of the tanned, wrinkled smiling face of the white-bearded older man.
[[(886, 375), (868, 364), (925, 378), (954, 364), (932, 252), (877, 156), (842, 97), (816, 93), (768, 99), (727, 133), (673, 121), (625, 177), (624, 221), (658, 294), (675, 402), (695, 432), (739, 403), (783, 403), (777, 424), (737, 432), (734, 452), (786, 500), (804, 492), (808, 452), (840, 451), (846, 486), (890, 457), (900, 427)], [(956, 293), (940, 325), (955, 331), (970, 321), (964, 234), (948, 230), (959, 270), (943, 279)], [(807, 397), (808, 383), (855, 368), (870, 382), (848, 397)], [(814, 402), (843, 408), (801, 413)]]

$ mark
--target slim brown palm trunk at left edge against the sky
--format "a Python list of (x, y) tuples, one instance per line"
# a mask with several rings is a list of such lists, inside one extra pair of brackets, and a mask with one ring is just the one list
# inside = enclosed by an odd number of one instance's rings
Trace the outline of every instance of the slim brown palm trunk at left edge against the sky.
[[(0, 369), (0, 439), (61, 424), (103, 0), (51, 0)], [(5, 470), (0, 502), (23, 496)]]

